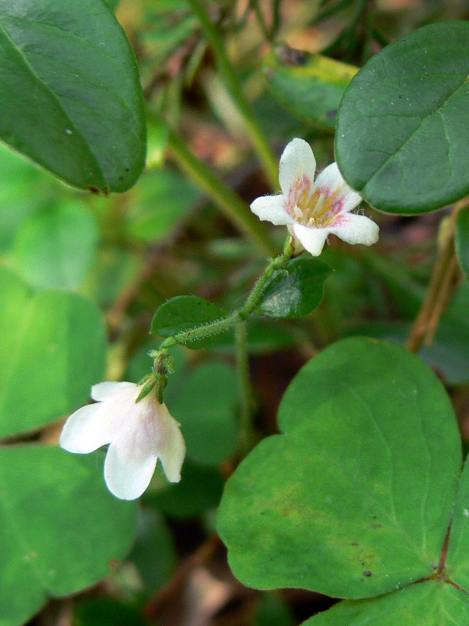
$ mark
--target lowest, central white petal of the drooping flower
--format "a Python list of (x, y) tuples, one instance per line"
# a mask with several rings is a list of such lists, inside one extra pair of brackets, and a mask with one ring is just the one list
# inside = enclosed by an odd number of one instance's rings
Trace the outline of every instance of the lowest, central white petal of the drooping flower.
[(146, 490), (158, 461), (154, 439), (136, 424), (114, 439), (104, 461), (104, 480), (109, 491), (121, 500), (135, 500)]

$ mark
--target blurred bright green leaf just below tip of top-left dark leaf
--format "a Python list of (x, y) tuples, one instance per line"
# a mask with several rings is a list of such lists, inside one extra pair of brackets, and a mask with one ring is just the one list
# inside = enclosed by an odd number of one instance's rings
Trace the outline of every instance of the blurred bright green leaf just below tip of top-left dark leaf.
[(171, 170), (144, 175), (126, 215), (129, 235), (144, 242), (166, 239), (187, 218), (201, 194)]

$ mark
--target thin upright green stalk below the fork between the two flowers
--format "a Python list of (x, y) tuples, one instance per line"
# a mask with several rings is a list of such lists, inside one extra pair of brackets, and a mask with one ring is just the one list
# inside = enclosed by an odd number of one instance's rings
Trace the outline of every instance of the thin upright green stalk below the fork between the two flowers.
[(238, 372), (238, 388), (241, 400), (241, 432), (240, 448), (244, 454), (254, 445), (253, 428), (253, 390), (248, 354), (248, 326), (246, 320), (239, 321), (235, 326), (236, 366)]

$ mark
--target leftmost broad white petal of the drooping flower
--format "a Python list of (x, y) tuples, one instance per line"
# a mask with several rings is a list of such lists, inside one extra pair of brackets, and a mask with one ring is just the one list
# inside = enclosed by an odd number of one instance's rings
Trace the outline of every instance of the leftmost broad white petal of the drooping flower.
[(72, 413), (60, 434), (61, 448), (88, 454), (109, 443), (114, 434), (114, 415), (103, 404), (87, 404)]

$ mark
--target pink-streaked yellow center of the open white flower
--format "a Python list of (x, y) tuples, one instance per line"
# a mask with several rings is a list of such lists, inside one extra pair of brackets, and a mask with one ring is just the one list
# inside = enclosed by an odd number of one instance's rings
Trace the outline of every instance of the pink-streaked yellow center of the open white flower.
[(308, 228), (328, 228), (341, 223), (344, 196), (342, 187), (314, 187), (303, 172), (290, 187), (286, 211), (295, 222)]

